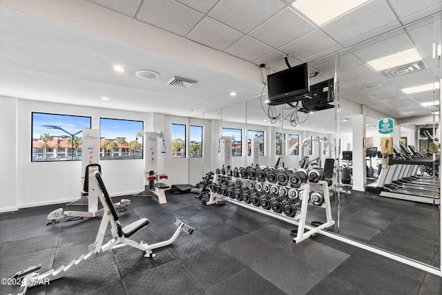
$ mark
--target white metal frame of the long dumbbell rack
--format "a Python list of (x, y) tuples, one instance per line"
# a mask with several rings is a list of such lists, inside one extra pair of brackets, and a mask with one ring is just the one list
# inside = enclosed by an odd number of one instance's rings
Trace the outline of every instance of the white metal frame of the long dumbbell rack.
[[(244, 180), (242, 178), (235, 178), (233, 176), (226, 176), (226, 175), (221, 175), (221, 174), (215, 174), (215, 181), (218, 181), (218, 176), (219, 177), (229, 177), (231, 178), (231, 180), (236, 181), (237, 179), (239, 180)], [(247, 180), (247, 182), (258, 182), (256, 180)], [(262, 184), (270, 184), (270, 185), (277, 185), (278, 187), (286, 187), (287, 189), (291, 189), (291, 187), (289, 186), (282, 186), (282, 185), (278, 185), (278, 184), (271, 184), (269, 182), (261, 182)], [(256, 207), (253, 204), (248, 204), (246, 202), (242, 202), (236, 199), (232, 199), (229, 197), (225, 197), (225, 196), (221, 196), (218, 193), (213, 193), (211, 192), (211, 196), (208, 202), (206, 202), (206, 204), (217, 204), (217, 200), (219, 200), (220, 198), (223, 198), (224, 200), (227, 200), (228, 202), (231, 202), (233, 204), (237, 204), (239, 206), (245, 207), (247, 209), (251, 209), (253, 211), (257, 211), (259, 213), (263, 213), (267, 216), (271, 216), (273, 218), (278, 218), (279, 220), (285, 221), (285, 222), (289, 222), (292, 225), (297, 225), (298, 226), (298, 232), (296, 234), (296, 238), (293, 239), (293, 241), (295, 243), (297, 242), (301, 242), (302, 240), (305, 240), (309, 237), (311, 237), (314, 234), (318, 234), (318, 232), (320, 231), (320, 229), (327, 229), (328, 227), (331, 227), (334, 225), (334, 220), (332, 218), (332, 207), (330, 204), (330, 196), (329, 196), (329, 187), (326, 181), (324, 180), (319, 180), (318, 184), (320, 184), (323, 187), (323, 196), (324, 196), (324, 202), (323, 204), (321, 204), (320, 206), (316, 206), (314, 204), (311, 204), (311, 202), (309, 202), (309, 194), (310, 194), (310, 184), (309, 182), (307, 183), (302, 183), (299, 187), (299, 189), (302, 189), (304, 191), (304, 195), (302, 197), (302, 202), (301, 202), (301, 208), (300, 208), (300, 212), (298, 211), (296, 213), (296, 215), (294, 217), (289, 217), (289, 216), (285, 216), (284, 213), (277, 213), (271, 210), (267, 210), (267, 209), (263, 209), (262, 207)], [(322, 225), (319, 225), (318, 227), (311, 227), (309, 225), (306, 225), (306, 221), (307, 221), (307, 211), (308, 211), (308, 205), (311, 206), (315, 206), (315, 207), (319, 207), (319, 208), (324, 208), (325, 209), (325, 216), (326, 216), (326, 222), (323, 223)], [(307, 232), (304, 232), (305, 229), (309, 229)]]

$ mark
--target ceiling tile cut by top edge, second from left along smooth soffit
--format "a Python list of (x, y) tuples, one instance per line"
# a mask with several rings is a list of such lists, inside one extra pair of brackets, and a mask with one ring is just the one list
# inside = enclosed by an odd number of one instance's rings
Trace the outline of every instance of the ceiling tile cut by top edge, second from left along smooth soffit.
[(185, 36), (203, 15), (173, 0), (145, 0), (137, 19)]

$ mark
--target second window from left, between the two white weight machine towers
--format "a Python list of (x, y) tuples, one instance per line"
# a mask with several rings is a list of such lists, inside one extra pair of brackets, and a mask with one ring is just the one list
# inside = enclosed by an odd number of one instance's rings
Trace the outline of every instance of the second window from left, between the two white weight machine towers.
[(99, 119), (99, 160), (128, 160), (143, 158), (143, 137), (136, 138), (144, 129), (142, 121)]

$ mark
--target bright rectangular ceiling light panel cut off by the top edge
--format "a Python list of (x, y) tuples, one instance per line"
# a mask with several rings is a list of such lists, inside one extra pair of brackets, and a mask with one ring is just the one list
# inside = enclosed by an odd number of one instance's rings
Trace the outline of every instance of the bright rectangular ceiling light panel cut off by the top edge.
[(298, 0), (291, 4), (318, 26), (356, 10), (372, 0)]

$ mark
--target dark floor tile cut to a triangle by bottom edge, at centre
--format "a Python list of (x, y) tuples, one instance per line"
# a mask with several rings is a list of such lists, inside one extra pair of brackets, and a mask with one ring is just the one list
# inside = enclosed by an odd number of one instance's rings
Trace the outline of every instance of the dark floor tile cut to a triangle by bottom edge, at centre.
[(248, 267), (232, 274), (228, 278), (204, 289), (209, 295), (238, 294), (238, 295), (278, 295), (285, 294), (281, 289), (269, 283), (268, 280), (253, 272)]

